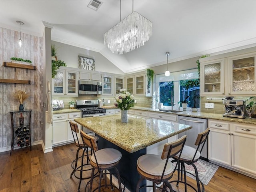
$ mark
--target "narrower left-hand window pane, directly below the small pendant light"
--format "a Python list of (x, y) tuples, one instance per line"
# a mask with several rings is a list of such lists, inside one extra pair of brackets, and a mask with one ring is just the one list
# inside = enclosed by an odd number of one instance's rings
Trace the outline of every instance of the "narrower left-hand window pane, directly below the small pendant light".
[(173, 98), (173, 81), (159, 83), (160, 103), (164, 106), (171, 106), (171, 94)]

